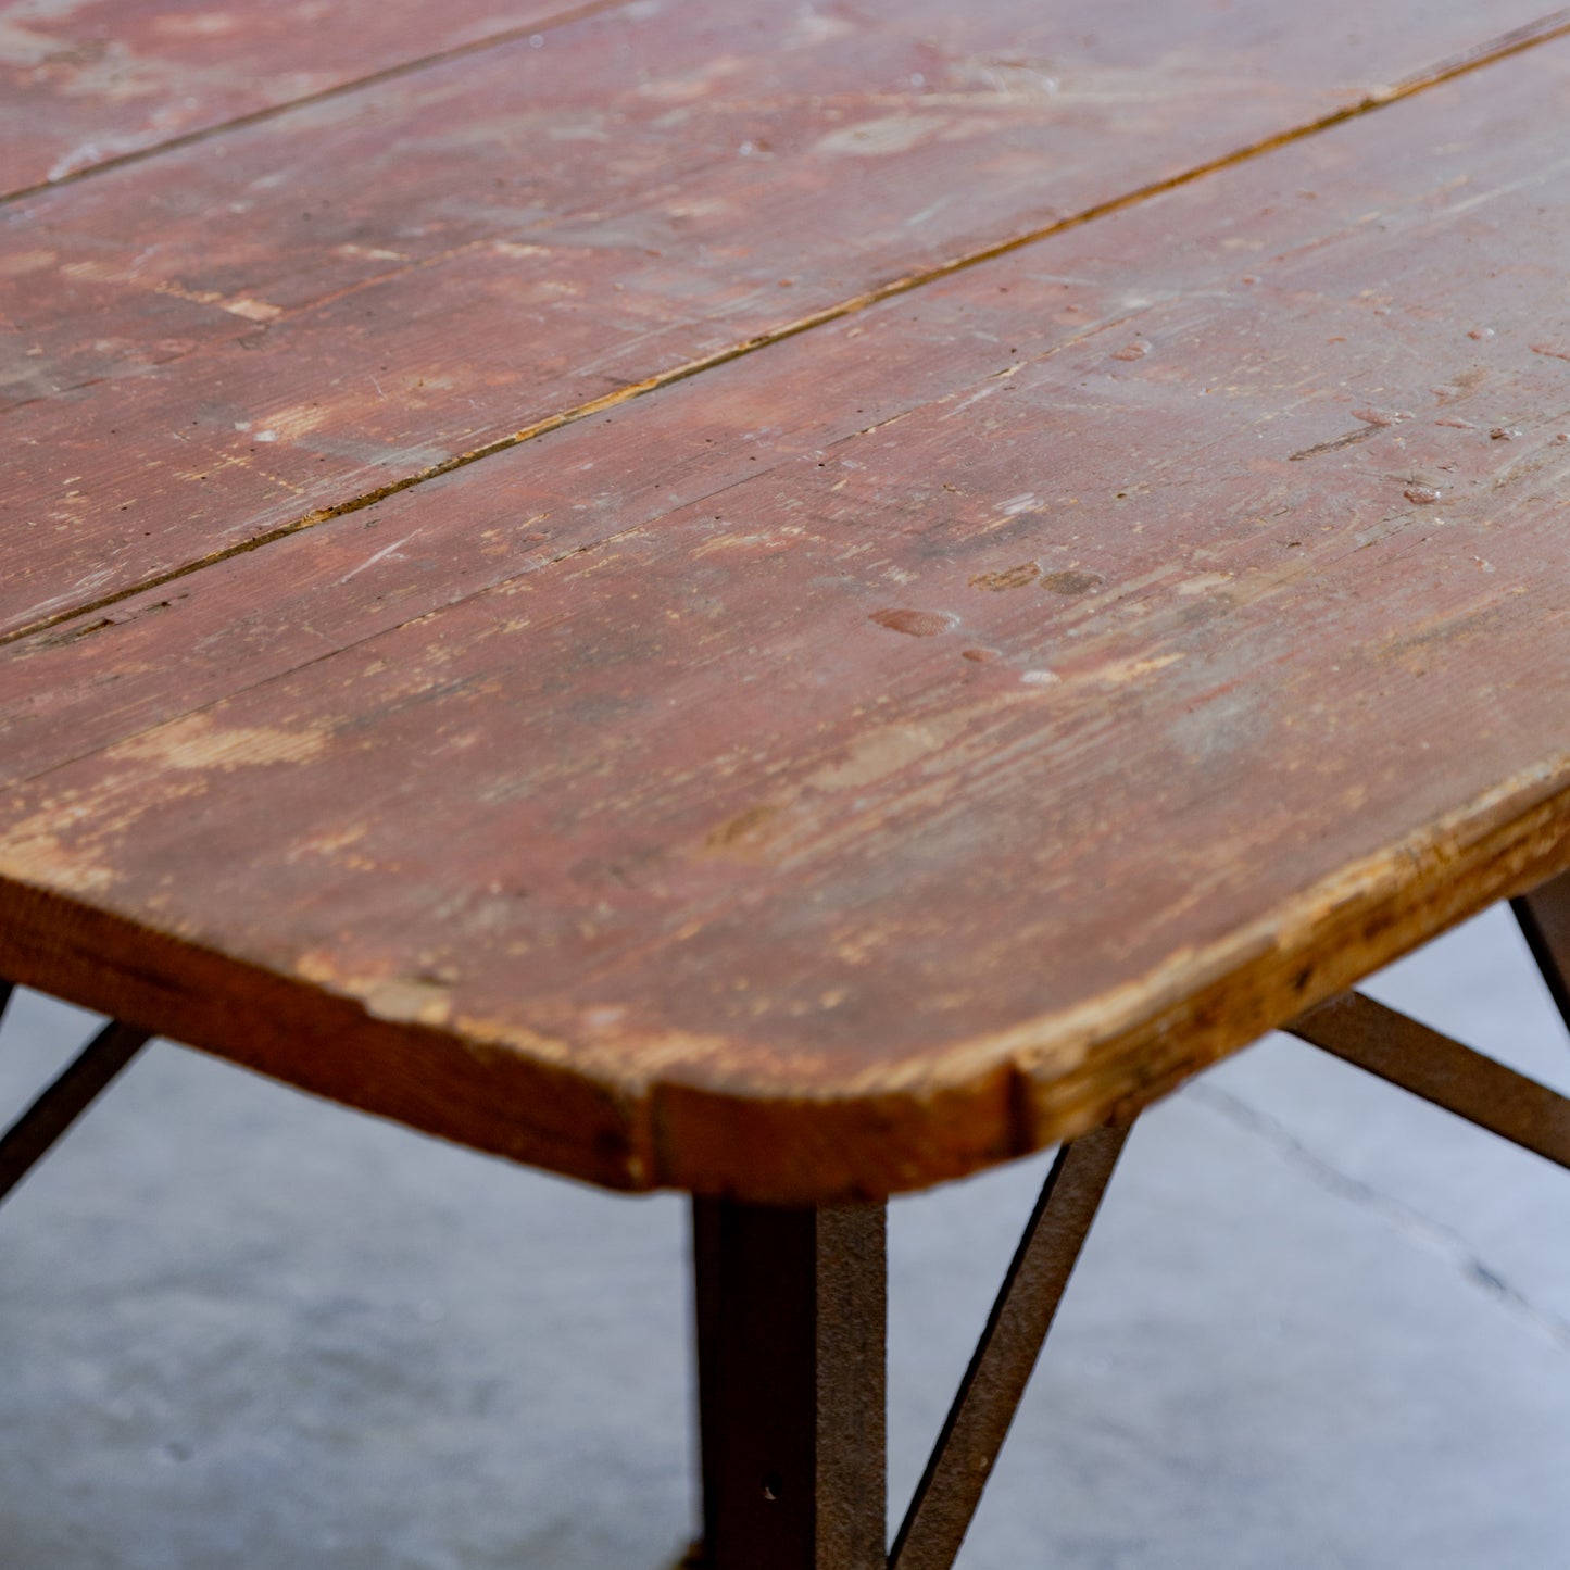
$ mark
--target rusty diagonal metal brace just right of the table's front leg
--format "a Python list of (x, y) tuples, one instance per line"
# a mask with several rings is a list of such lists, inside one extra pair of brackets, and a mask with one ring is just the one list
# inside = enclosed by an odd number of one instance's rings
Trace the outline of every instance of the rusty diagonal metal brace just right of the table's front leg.
[(890, 1570), (955, 1562), (1127, 1134), (1096, 1129), (1064, 1145), (1052, 1163), (889, 1554)]

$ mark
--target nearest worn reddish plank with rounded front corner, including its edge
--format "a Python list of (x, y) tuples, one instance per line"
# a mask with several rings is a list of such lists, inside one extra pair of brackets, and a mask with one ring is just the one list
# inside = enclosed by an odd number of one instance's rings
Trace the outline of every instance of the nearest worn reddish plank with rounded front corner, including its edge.
[(372, 550), (13, 645), (141, 696), (8, 794), (0, 973), (816, 1203), (1077, 1134), (1529, 887), (1570, 862), (1567, 96), (1535, 50), (421, 485)]

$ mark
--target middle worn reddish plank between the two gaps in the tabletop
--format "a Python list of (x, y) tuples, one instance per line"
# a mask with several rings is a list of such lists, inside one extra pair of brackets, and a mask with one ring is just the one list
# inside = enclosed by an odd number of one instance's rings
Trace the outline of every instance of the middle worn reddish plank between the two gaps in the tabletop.
[(1388, 97), (1524, 16), (633, 8), (13, 204), (0, 636)]

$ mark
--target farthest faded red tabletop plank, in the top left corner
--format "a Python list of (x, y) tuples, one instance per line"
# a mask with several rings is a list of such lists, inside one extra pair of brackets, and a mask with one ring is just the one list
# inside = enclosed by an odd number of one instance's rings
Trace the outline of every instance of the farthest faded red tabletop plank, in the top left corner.
[(559, 0), (11, 0), (0, 195), (581, 14)]

